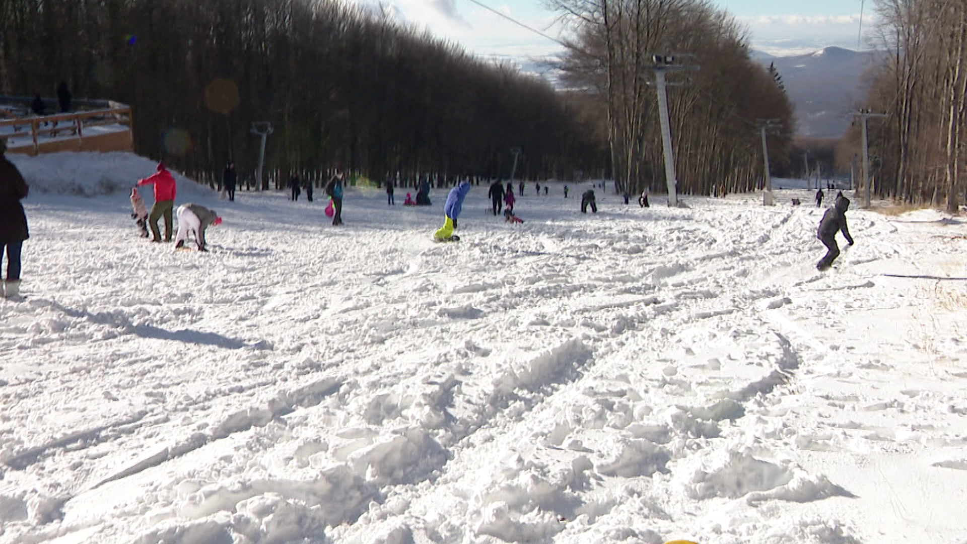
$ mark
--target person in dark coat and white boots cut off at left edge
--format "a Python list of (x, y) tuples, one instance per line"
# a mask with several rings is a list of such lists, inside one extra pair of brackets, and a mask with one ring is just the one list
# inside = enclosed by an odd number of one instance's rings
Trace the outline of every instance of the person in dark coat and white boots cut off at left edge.
[(20, 294), (20, 251), (23, 242), (30, 237), (27, 215), (20, 200), (30, 188), (13, 163), (4, 155), (7, 141), (0, 138), (0, 262), (7, 254), (7, 279), (2, 283), (0, 295), (13, 298)]

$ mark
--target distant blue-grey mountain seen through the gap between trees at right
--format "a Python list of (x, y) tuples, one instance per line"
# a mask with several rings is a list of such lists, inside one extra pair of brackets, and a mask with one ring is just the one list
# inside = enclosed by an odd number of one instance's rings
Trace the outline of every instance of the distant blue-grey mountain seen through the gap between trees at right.
[(863, 101), (864, 74), (879, 55), (877, 51), (826, 47), (806, 55), (753, 54), (753, 58), (765, 66), (776, 65), (789, 100), (796, 107), (797, 135), (838, 137), (849, 127), (849, 113)]

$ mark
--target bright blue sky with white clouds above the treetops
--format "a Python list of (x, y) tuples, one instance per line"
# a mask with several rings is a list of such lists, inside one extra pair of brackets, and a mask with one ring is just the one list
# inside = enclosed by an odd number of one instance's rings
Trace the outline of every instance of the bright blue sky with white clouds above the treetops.
[[(541, 0), (480, 0), (552, 37), (562, 27)], [(719, 8), (745, 23), (752, 45), (777, 55), (803, 54), (828, 45), (860, 46), (861, 0), (717, 0)], [(871, 0), (865, 2), (868, 22)], [(466, 46), (485, 57), (523, 60), (540, 58), (561, 46), (484, 9), (471, 0), (393, 0), (383, 2), (400, 19), (428, 28), (433, 34)]]

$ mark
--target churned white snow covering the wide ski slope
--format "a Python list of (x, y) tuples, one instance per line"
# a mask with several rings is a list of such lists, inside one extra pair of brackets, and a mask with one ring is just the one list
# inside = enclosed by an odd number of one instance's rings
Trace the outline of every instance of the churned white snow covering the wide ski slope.
[(2, 543), (967, 542), (962, 219), (850, 211), (819, 274), (808, 191), (512, 226), (481, 186), (436, 244), (444, 190), (332, 227), (182, 181), (201, 254), (137, 237), (153, 163), (12, 159)]

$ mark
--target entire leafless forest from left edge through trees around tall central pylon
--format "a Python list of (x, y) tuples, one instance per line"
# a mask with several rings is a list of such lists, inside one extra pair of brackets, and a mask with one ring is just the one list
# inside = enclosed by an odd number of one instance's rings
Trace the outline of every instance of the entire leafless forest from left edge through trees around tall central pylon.
[[(772, 164), (788, 162), (794, 116), (748, 57), (743, 29), (704, 0), (554, 0), (571, 47), (570, 87), (477, 59), (382, 15), (310, 0), (3, 0), (0, 91), (132, 105), (135, 147), (189, 172), (257, 159), (252, 122), (269, 121), (267, 166), (351, 168), (382, 180), (436, 173), (568, 179), (613, 175), (661, 189), (653, 55), (669, 73), (679, 191), (761, 183), (759, 123)], [(613, 167), (612, 167), (613, 165)]]

